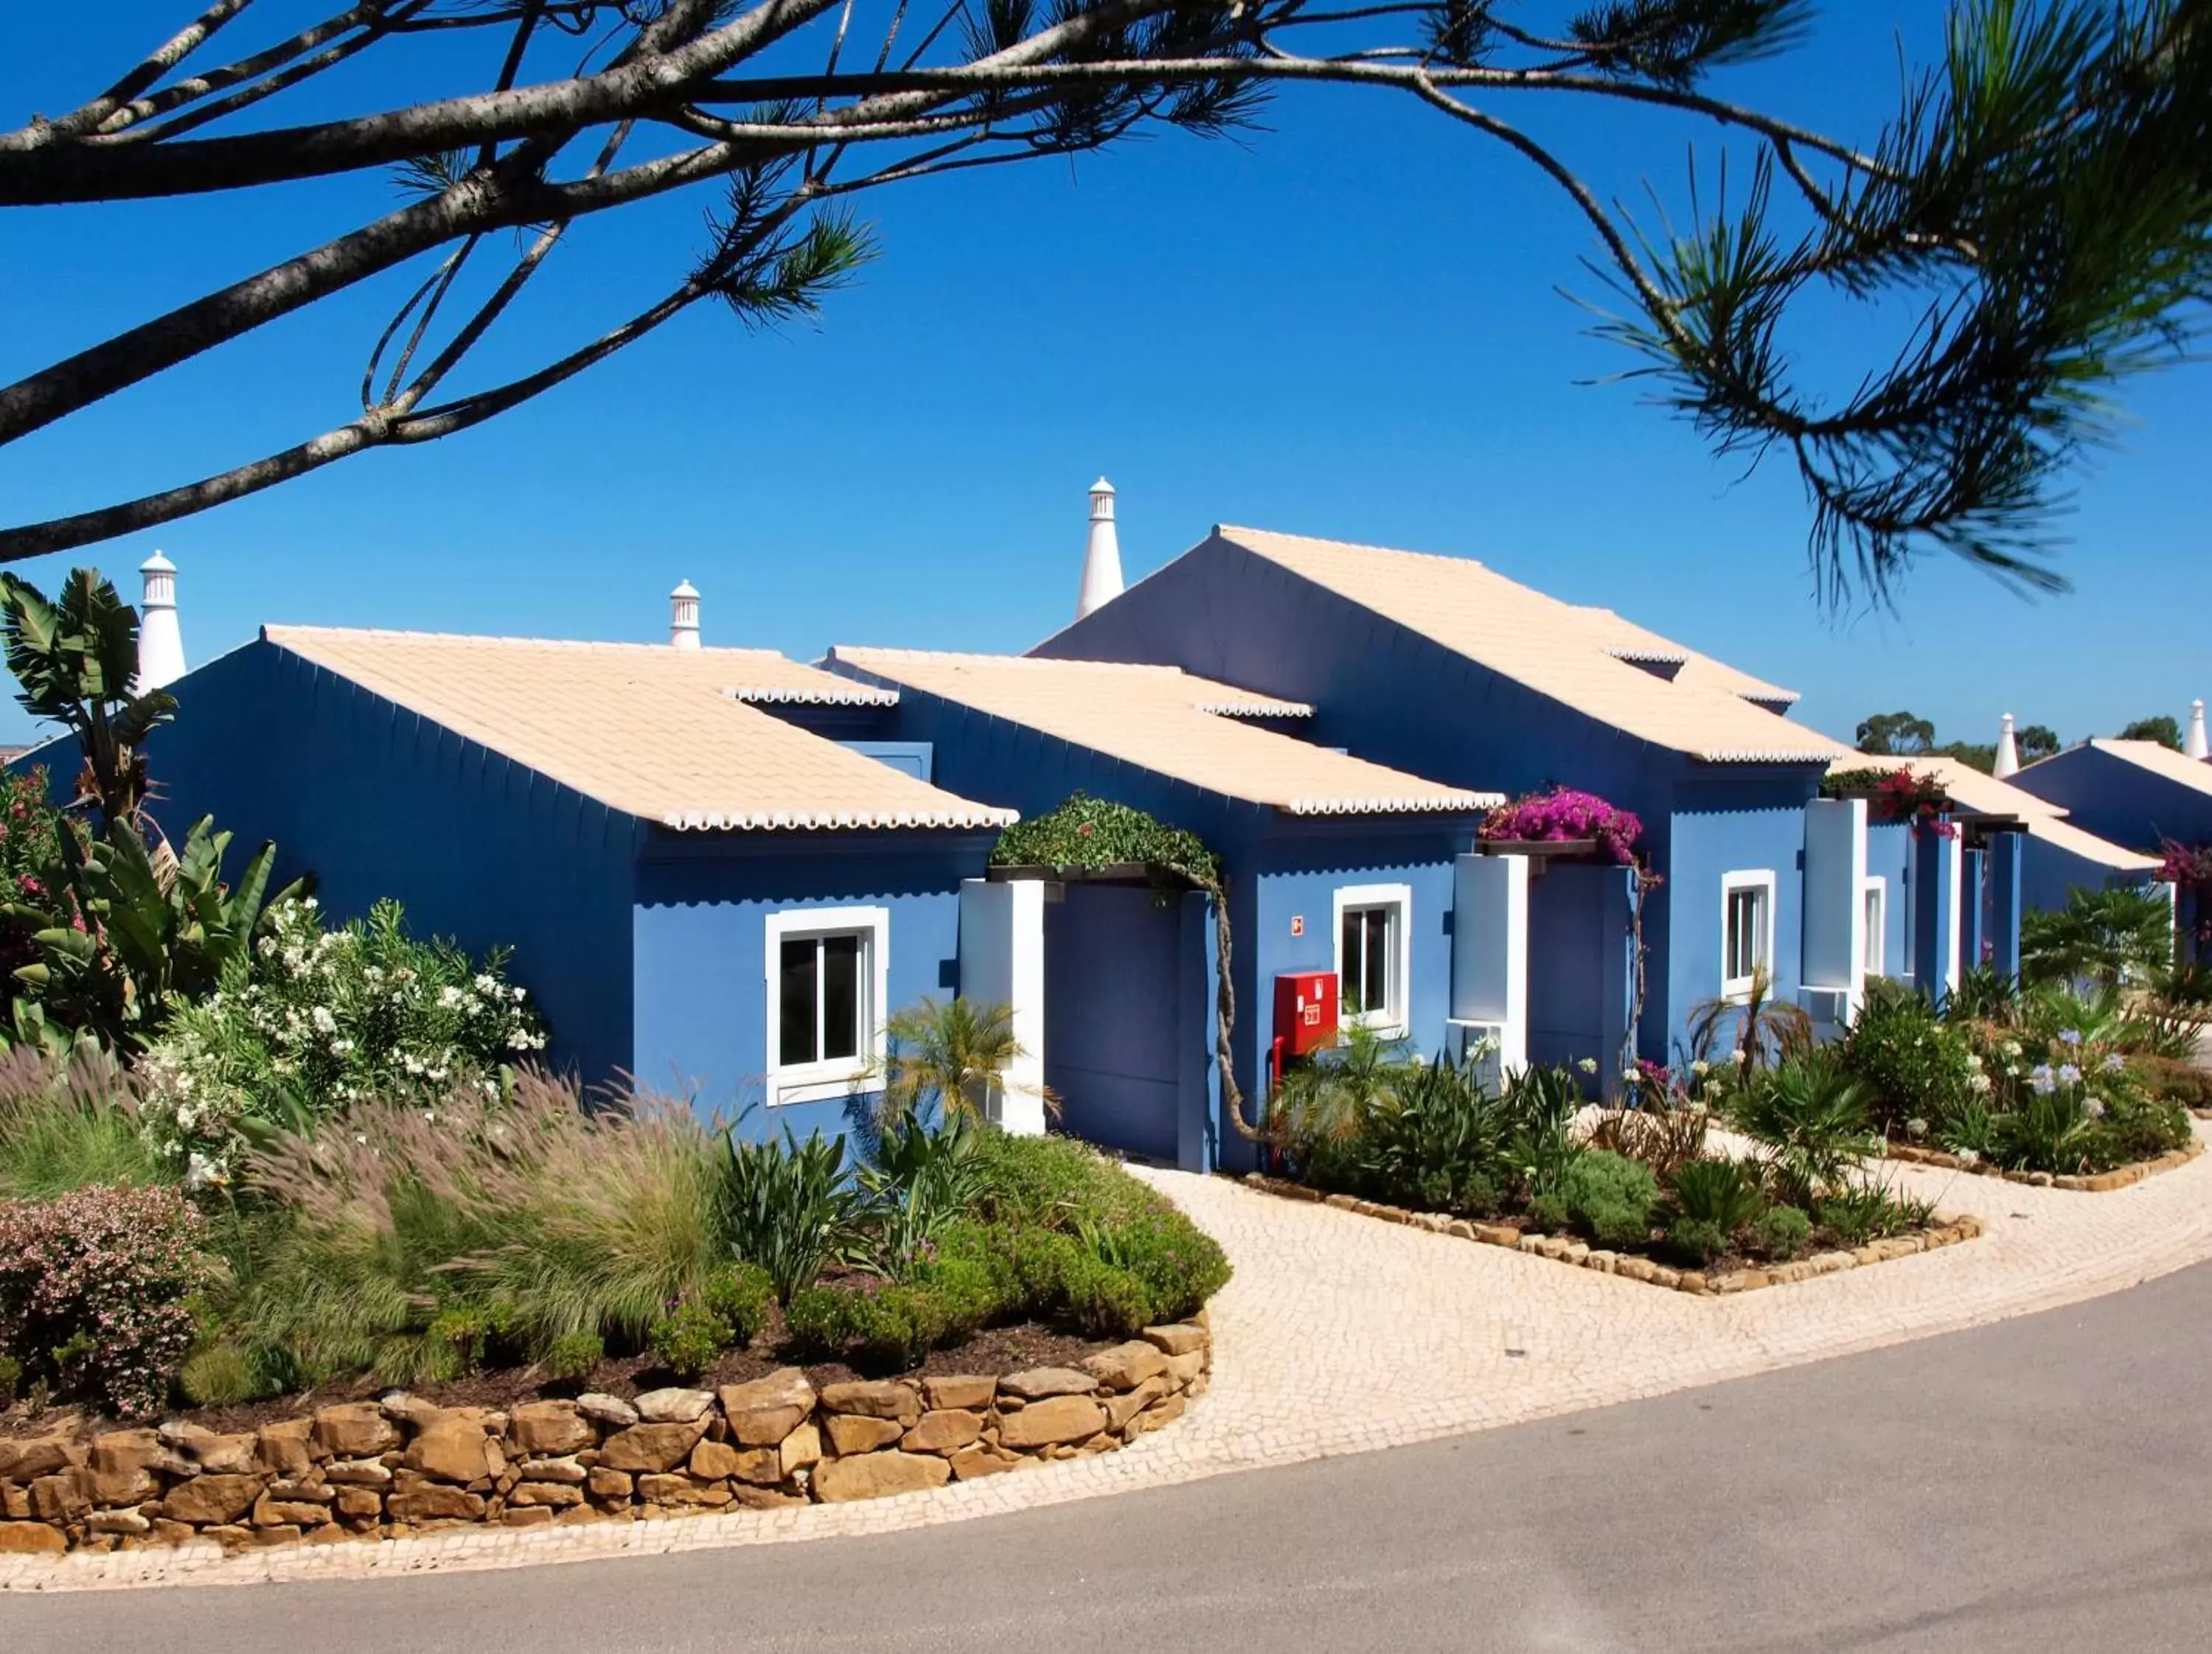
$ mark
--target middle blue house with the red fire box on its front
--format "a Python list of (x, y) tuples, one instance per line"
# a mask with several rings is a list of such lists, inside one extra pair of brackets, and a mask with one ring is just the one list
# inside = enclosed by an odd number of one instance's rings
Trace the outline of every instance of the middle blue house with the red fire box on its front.
[[(953, 792), (1024, 816), (1084, 792), (1206, 840), (1228, 891), (1248, 1119), (1287, 1033), (1272, 993), (1285, 973), (1336, 973), (1347, 1019), (1418, 1050), (1489, 1037), (1524, 1059), (1520, 869), (1471, 854), (1498, 794), (1332, 752), (1292, 734), (1314, 708), (1175, 668), (867, 648), (827, 666), (894, 688), (880, 732), (927, 745)], [(1210, 898), (1137, 878), (1035, 900), (1044, 1079), (1066, 1128), (1181, 1165), (1248, 1165), (1219, 1112)]]

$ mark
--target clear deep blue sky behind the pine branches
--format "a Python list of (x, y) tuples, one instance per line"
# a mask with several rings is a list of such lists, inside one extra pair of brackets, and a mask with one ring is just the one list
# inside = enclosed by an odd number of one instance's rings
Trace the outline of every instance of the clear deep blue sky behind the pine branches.
[[(310, 15), (265, 7), (268, 31)], [(0, 60), (0, 117), (66, 108), (190, 9), (119, 0), (100, 31), (33, 9)], [(1893, 100), (1900, 27), (1927, 53), (1938, 11), (1829, 0), (1807, 49), (1719, 88), (1867, 137)], [(336, 84), (327, 106), (396, 86)], [(1677, 208), (1690, 146), (1714, 153), (1710, 133), (1648, 115), (1502, 113), (1608, 192), (1648, 181)], [(1464, 553), (1794, 685), (1798, 716), (1845, 739), (1893, 708), (1936, 719), (1942, 739), (1991, 739), (2004, 710), (2075, 739), (2212, 694), (2205, 369), (2128, 389), (2130, 425), (2064, 522), (2075, 595), (2028, 604), (1931, 559), (1898, 615), (1823, 617), (1794, 473), (1743, 475), (1635, 387), (1590, 383), (1628, 360), (1557, 292), (1595, 294), (1577, 263), (1590, 239), (1526, 164), (1411, 100), (1314, 91), (1279, 100), (1267, 124), (1239, 144), (1161, 135), (880, 192), (865, 210), (883, 257), (818, 329), (748, 334), (701, 307), (476, 433), (352, 460), (91, 559), (135, 593), (126, 570), (168, 551), (195, 661), (263, 621), (659, 637), (681, 577), (703, 590), (717, 643), (1020, 650), (1071, 613), (1084, 491), (1104, 471), (1133, 577), (1214, 522)], [(363, 177), (9, 212), (0, 374), (389, 201), (389, 179)], [(648, 303), (710, 206), (582, 226), (489, 363), (531, 365)], [(416, 279), (0, 449), (0, 513), (106, 504), (343, 422), (367, 345)], [(27, 573), (51, 582), (80, 559)], [(0, 739), (27, 727), (0, 712)]]

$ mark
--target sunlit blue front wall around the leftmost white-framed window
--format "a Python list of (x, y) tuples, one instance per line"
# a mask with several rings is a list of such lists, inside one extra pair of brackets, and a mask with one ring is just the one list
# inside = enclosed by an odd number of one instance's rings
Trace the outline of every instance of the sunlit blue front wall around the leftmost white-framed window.
[(982, 871), (989, 834), (670, 834), (637, 860), (635, 1050), (653, 1090), (690, 1095), (748, 1137), (845, 1132), (872, 1099), (765, 1106), (768, 915), (810, 907), (889, 909), (889, 1004), (958, 991), (960, 880)]

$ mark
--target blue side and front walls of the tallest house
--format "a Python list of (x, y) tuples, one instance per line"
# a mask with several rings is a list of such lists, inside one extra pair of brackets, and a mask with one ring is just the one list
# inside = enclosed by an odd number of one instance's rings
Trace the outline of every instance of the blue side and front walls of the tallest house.
[[(1776, 867), (1776, 964), (1794, 993), (1801, 812), (1818, 792), (1820, 765), (1690, 763), (1225, 540), (1130, 586), (1037, 655), (1181, 666), (1314, 703), (1318, 745), (1462, 787), (1517, 794), (1566, 783), (1637, 812), (1663, 878), (1644, 918), (1648, 1057), (1663, 1059), (1692, 1008), (1717, 991), (1719, 871)], [(1677, 924), (1674, 913), (1688, 918)]]

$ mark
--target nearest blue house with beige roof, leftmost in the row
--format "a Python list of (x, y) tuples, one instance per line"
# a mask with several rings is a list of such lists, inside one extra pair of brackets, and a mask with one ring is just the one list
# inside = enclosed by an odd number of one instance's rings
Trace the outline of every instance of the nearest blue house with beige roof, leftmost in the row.
[(511, 946), (586, 1084), (843, 1130), (889, 1011), (1004, 975), (982, 871), (1013, 812), (933, 787), (927, 752), (801, 727), (889, 690), (768, 650), (305, 626), (170, 690), (173, 834), (212, 814), (336, 915), (389, 896), (418, 933)]

